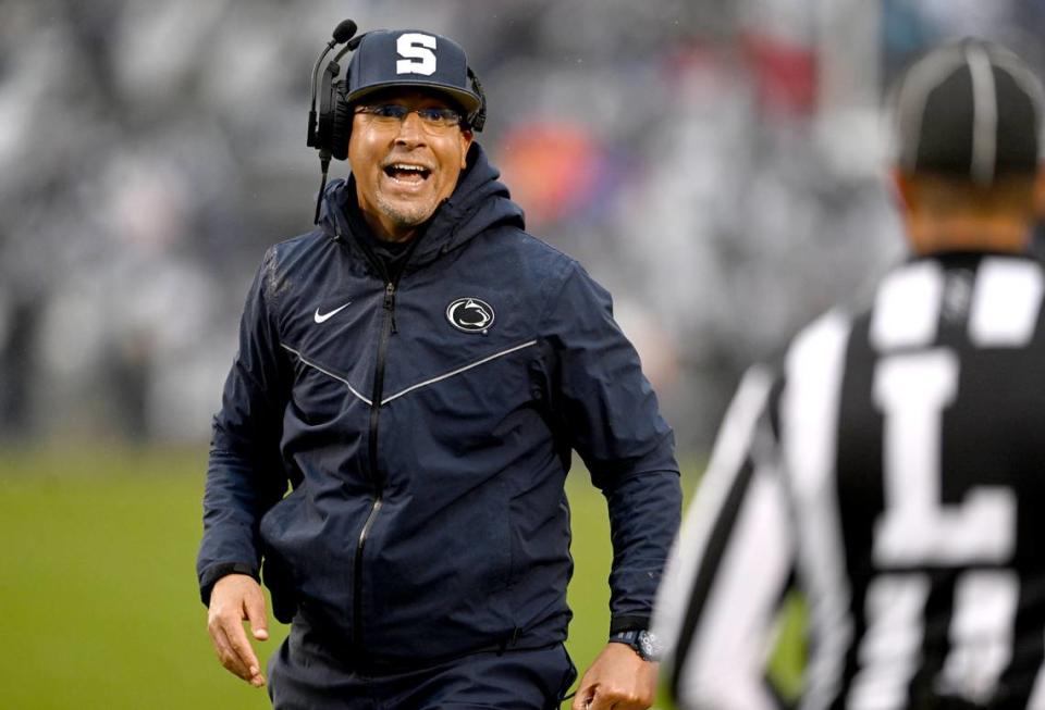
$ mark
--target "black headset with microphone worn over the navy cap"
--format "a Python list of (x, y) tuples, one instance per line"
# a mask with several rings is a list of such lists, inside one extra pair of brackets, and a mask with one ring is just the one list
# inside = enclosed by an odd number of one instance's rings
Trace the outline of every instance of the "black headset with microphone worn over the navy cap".
[[(319, 151), (319, 165), (322, 171), (322, 182), (319, 186), (319, 195), (316, 197), (316, 215), (312, 224), (319, 222), (319, 210), (322, 204), (323, 190), (327, 187), (327, 171), (330, 167), (330, 159), (345, 160), (348, 158), (348, 137), (352, 134), (352, 107), (346, 100), (348, 92), (351, 75), (346, 73), (343, 79), (337, 79), (341, 74), (341, 65), (337, 63), (346, 52), (355, 51), (359, 47), (367, 33), (356, 35), (358, 29), (355, 21), (342, 20), (334, 27), (332, 39), (327, 42), (327, 47), (316, 60), (312, 67), (312, 99), (308, 111), (308, 136), (306, 145), (309, 148), (316, 148)], [(323, 70), (322, 82), (317, 91), (317, 80), (319, 79), (319, 67), (323, 59), (337, 45), (345, 47), (337, 52)], [(351, 66), (351, 65), (349, 65)], [(472, 90), (479, 97), (479, 108), (466, 117), (470, 129), (482, 130), (487, 122), (487, 96), (479, 84), (471, 67), (467, 67), (468, 80)], [(335, 80), (336, 79), (336, 80)], [(316, 113), (316, 96), (319, 95), (319, 113)]]

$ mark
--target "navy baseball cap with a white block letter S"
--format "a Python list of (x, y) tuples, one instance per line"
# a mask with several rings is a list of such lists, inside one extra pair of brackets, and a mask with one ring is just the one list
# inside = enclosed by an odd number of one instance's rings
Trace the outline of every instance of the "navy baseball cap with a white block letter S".
[(420, 29), (368, 32), (352, 55), (345, 100), (355, 103), (368, 94), (397, 86), (444, 94), (469, 120), (483, 103), (468, 76), (468, 58), (457, 42)]

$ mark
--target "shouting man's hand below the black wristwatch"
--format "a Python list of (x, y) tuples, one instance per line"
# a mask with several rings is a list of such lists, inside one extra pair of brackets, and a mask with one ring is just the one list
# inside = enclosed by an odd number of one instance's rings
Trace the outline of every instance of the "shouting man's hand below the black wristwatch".
[(624, 644), (606, 644), (580, 678), (571, 710), (646, 710), (656, 694), (656, 663)]

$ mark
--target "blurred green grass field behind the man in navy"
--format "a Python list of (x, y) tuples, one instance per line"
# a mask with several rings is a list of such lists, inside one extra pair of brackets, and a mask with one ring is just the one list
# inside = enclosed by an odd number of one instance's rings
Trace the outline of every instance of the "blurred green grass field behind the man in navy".
[[(0, 453), (0, 707), (266, 708), (228, 674), (195, 580), (206, 449)], [(578, 668), (607, 631), (605, 501), (570, 474)], [(267, 659), (286, 633), (259, 644)]]

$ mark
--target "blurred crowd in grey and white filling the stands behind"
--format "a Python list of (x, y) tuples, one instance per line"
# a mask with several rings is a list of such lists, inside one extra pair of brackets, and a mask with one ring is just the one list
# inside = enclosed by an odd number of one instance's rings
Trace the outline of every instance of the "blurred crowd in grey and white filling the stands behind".
[(901, 258), (898, 70), (979, 35), (1040, 71), (1045, 36), (1042, 0), (0, 0), (0, 439), (206, 441), (249, 279), (311, 227), (344, 17), (465, 46), (480, 141), (614, 294), (684, 451)]

